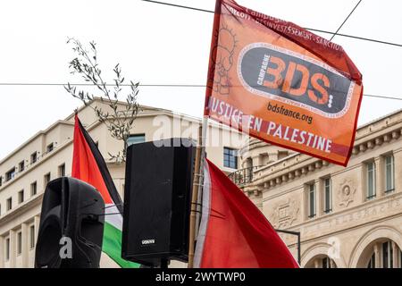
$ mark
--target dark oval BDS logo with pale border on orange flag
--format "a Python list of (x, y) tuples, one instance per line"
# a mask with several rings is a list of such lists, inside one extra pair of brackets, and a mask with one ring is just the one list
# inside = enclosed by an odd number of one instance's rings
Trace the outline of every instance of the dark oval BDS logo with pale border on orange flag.
[(250, 92), (326, 117), (348, 111), (355, 83), (329, 65), (279, 46), (255, 43), (239, 55), (238, 75)]

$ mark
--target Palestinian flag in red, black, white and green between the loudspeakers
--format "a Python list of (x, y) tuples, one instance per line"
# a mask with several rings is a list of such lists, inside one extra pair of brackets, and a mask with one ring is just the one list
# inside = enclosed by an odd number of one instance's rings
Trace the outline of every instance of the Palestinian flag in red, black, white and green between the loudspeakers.
[(121, 258), (122, 202), (107, 170), (104, 157), (93, 139), (75, 115), (74, 150), (71, 177), (88, 182), (105, 200), (105, 230), (103, 251), (121, 267), (140, 265)]

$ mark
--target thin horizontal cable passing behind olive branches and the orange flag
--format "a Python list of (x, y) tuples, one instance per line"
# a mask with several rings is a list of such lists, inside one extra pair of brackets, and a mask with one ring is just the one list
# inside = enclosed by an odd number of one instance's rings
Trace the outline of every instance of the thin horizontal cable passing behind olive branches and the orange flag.
[[(93, 87), (94, 85), (91, 83), (70, 83), (72, 86), (77, 87)], [(40, 82), (0, 82), (0, 86), (47, 86), (47, 87), (64, 87), (67, 86), (66, 83), (40, 83)], [(106, 87), (114, 87), (114, 84), (106, 84)], [(130, 87), (130, 84), (121, 84), (121, 87)], [(206, 88), (205, 84), (138, 84), (138, 87), (145, 88)], [(382, 99), (392, 99), (392, 100), (401, 100), (402, 97), (389, 97), (389, 96), (376, 96), (376, 95), (364, 95), (364, 97), (377, 97)]]

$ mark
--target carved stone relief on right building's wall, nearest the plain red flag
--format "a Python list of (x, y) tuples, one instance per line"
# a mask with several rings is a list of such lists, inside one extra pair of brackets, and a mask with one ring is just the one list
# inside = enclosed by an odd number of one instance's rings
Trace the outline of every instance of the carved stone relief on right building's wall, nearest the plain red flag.
[(272, 207), (270, 223), (274, 228), (286, 228), (297, 221), (300, 213), (300, 203), (296, 199), (288, 198)]

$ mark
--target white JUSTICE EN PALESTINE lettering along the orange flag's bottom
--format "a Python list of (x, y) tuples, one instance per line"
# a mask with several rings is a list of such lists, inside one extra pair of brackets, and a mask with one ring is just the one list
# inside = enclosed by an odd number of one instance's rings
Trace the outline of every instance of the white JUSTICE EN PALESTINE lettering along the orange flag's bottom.
[(208, 108), (211, 113), (218, 115), (222, 122), (231, 126), (241, 127), (243, 131), (255, 130), (265, 132), (273, 138), (287, 140), (306, 147), (331, 153), (332, 140), (318, 136), (306, 130), (299, 130), (276, 122), (264, 122), (262, 118), (243, 114), (238, 108), (215, 97), (210, 97)]

